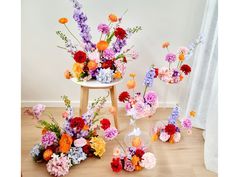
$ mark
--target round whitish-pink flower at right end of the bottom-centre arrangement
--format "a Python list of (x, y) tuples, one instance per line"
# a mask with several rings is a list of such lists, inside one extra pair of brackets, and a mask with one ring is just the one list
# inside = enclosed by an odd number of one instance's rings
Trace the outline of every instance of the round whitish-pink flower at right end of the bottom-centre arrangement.
[(140, 166), (146, 169), (152, 169), (156, 166), (156, 157), (151, 152), (146, 152), (142, 156), (142, 160), (140, 162)]

